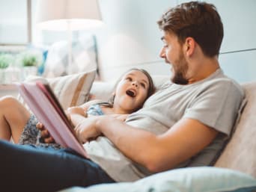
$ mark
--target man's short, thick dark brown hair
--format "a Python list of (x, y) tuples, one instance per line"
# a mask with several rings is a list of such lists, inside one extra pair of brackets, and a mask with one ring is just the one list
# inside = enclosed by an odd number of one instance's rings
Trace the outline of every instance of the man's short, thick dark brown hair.
[(179, 4), (165, 12), (157, 23), (161, 30), (177, 35), (180, 43), (192, 37), (204, 55), (219, 55), (223, 25), (213, 4), (199, 1)]

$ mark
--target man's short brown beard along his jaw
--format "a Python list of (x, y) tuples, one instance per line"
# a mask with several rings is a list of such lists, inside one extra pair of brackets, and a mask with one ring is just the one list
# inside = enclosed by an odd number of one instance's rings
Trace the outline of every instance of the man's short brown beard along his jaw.
[(171, 77), (171, 81), (174, 82), (174, 84), (188, 84), (189, 81), (186, 78), (186, 72), (189, 68), (183, 53), (180, 52), (179, 60), (177, 61), (177, 64), (175, 64), (176, 67), (173, 65), (173, 72), (174, 75)]

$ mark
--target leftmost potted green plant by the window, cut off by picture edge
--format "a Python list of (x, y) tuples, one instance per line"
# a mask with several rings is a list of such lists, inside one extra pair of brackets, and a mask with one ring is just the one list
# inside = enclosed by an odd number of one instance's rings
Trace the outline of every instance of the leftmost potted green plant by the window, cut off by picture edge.
[(10, 54), (0, 54), (0, 84), (5, 83), (5, 70), (13, 63), (13, 56)]

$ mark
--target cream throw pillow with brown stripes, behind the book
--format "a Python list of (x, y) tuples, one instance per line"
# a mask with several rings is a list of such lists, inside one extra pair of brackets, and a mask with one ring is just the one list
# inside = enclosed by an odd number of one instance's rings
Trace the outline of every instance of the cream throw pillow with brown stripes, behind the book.
[[(67, 109), (71, 106), (82, 105), (88, 101), (89, 92), (91, 90), (91, 85), (94, 81), (95, 74), (95, 71), (91, 71), (80, 72), (57, 78), (30, 76), (25, 81), (48, 81), (49, 86), (52, 88), (55, 96), (61, 103), (62, 108)], [(19, 101), (22, 101), (21, 96), (18, 96), (18, 98)]]

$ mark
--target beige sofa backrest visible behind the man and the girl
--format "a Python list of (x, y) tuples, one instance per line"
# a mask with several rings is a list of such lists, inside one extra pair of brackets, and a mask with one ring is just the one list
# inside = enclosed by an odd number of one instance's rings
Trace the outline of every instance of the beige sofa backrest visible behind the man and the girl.
[[(168, 76), (153, 76), (156, 88), (168, 80)], [(94, 98), (107, 100), (115, 83), (94, 82), (91, 93)], [(237, 122), (231, 140), (217, 159), (216, 167), (240, 170), (256, 177), (256, 81), (242, 85), (246, 91), (247, 103)]]

